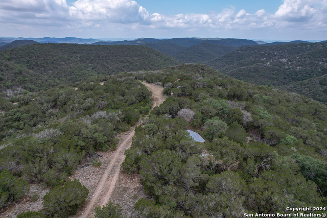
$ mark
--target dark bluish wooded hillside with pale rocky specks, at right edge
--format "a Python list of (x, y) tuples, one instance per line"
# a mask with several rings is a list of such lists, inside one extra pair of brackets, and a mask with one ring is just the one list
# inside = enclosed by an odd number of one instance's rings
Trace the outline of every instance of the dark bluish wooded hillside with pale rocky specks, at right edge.
[(326, 57), (327, 43), (260, 45), (242, 47), (207, 64), (239, 80), (273, 85), (327, 102), (327, 86), (317, 82), (327, 74)]

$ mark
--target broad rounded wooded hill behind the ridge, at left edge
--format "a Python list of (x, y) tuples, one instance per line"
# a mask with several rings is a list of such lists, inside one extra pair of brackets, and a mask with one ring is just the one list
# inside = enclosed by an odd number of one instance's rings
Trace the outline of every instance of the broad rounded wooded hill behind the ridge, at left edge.
[(146, 46), (33, 44), (0, 52), (0, 85), (2, 91), (20, 87), (35, 91), (91, 76), (179, 63)]

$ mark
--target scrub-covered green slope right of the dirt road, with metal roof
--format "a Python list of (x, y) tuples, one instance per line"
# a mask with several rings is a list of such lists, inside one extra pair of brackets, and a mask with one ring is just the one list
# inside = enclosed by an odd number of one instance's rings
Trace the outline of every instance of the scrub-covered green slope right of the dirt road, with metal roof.
[[(125, 152), (124, 171), (139, 173), (152, 197), (137, 202), (133, 217), (244, 217), (327, 206), (325, 105), (199, 64), (134, 76), (160, 82), (173, 96), (135, 129)], [(192, 140), (188, 129), (206, 142)]]

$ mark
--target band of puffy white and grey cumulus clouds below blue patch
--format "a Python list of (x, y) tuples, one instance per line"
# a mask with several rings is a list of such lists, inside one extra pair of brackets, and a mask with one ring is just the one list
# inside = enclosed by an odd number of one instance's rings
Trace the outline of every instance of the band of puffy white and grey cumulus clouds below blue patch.
[(253, 30), (284, 28), (327, 28), (327, 0), (284, 0), (274, 14), (264, 9), (254, 14), (230, 7), (220, 13), (165, 15), (149, 13), (130, 0), (1, 0), (0, 23), (12, 26), (47, 26), (63, 29), (98, 28), (115, 30), (185, 29)]

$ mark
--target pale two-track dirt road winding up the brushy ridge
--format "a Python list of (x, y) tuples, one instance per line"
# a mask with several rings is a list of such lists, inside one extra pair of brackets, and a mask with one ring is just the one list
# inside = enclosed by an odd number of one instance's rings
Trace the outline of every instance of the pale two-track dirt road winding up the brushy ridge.
[[(162, 91), (164, 90), (163, 87), (147, 82), (142, 82), (142, 84), (152, 91), (151, 100), (153, 101), (153, 106), (151, 110), (166, 100), (165, 96), (162, 95)], [(121, 138), (120, 143), (117, 149), (114, 151), (113, 156), (109, 157), (110, 160), (103, 161), (107, 162), (105, 172), (102, 174), (102, 176), (100, 176), (101, 172), (99, 172), (99, 176), (97, 176), (97, 178), (101, 178), (98, 180), (95, 190), (90, 190), (92, 197), (86, 202), (82, 211), (79, 212), (79, 217), (92, 217), (95, 207), (103, 206), (109, 202), (120, 175), (121, 164), (125, 160), (124, 153), (132, 144), (132, 138), (135, 134), (135, 127), (137, 125), (138, 124), (133, 126), (128, 132), (122, 133), (118, 136), (118, 138)]]

